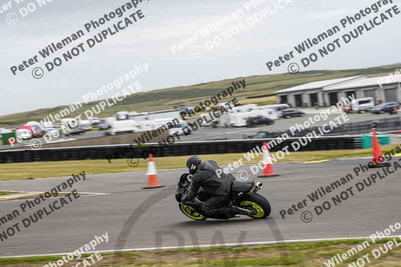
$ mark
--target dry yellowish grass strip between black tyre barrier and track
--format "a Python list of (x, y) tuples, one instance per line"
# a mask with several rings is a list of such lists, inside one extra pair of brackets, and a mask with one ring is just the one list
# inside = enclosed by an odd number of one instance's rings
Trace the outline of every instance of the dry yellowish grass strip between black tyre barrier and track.
[[(382, 151), (389, 150), (395, 145), (382, 147)], [(272, 155), (274, 152), (272, 152)], [(335, 159), (344, 157), (371, 156), (371, 149), (349, 149), (349, 150), (324, 150), (292, 152), (286, 155), (283, 160), (289, 161), (319, 161), (325, 159)], [(258, 163), (262, 160), (262, 155), (254, 160), (247, 161), (244, 153), (236, 154), (210, 154), (200, 155), (203, 160), (214, 159), (220, 166), (232, 164), (234, 161), (243, 159), (243, 164)], [(184, 168), (187, 156), (160, 157), (155, 158), (157, 169)], [(70, 176), (72, 173), (85, 171), (85, 174), (117, 173), (130, 171), (144, 171), (147, 169), (147, 160), (139, 159), (135, 167), (127, 163), (127, 159), (113, 159), (109, 163), (104, 160), (77, 160), (77, 161), (56, 161), (56, 162), (29, 162), (29, 163), (7, 163), (1, 164), (0, 180), (18, 180), (28, 178), (46, 178)]]

